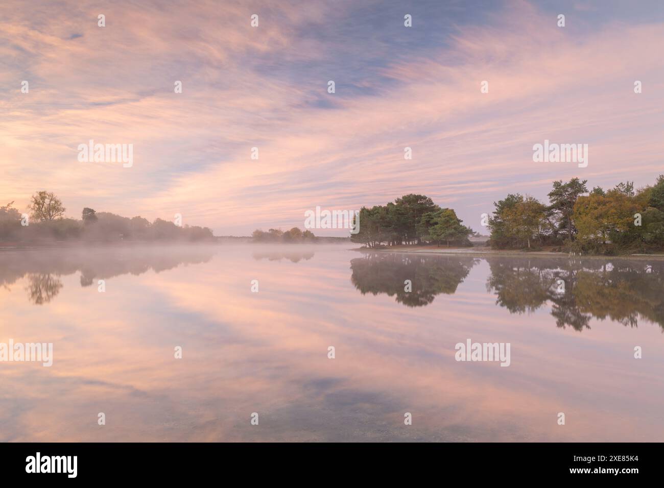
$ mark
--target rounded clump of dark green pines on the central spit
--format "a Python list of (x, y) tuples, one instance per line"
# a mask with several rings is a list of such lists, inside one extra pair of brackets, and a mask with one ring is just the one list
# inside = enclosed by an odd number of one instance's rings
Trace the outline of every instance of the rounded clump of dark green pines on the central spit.
[(452, 208), (441, 208), (425, 195), (409, 194), (386, 205), (363, 206), (358, 232), (351, 234), (351, 241), (369, 248), (383, 243), (469, 246), (473, 230), (461, 222)]

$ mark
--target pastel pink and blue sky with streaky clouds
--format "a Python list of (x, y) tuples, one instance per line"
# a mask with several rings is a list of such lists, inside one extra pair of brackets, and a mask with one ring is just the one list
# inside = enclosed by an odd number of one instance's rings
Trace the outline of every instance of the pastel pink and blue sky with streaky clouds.
[[(420, 193), (487, 234), (507, 193), (664, 173), (663, 45), (661, 1), (4, 0), (0, 205), (249, 235)], [(133, 165), (79, 161), (90, 139)], [(544, 139), (588, 166), (534, 162)]]

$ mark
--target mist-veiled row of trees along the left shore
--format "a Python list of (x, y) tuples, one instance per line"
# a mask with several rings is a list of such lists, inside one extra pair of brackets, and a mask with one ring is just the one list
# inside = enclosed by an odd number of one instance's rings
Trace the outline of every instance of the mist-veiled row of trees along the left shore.
[(84, 240), (90, 242), (136, 241), (207, 241), (214, 240), (212, 230), (200, 226), (179, 226), (161, 218), (149, 222), (136, 216), (123, 217), (110, 212), (84, 208), (81, 219), (66, 218), (62, 201), (48, 191), (31, 197), (29, 214), (23, 214), (11, 202), (0, 206), (0, 241), (39, 242), (41, 240)]

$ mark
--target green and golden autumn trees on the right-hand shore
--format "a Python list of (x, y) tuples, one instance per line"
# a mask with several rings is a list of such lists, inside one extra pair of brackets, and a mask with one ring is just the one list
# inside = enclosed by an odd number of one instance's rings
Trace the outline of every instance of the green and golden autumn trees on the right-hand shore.
[(519, 193), (495, 202), (493, 248), (560, 246), (570, 252), (620, 254), (664, 249), (664, 175), (634, 190), (633, 182), (588, 191), (587, 180), (554, 181), (549, 203)]

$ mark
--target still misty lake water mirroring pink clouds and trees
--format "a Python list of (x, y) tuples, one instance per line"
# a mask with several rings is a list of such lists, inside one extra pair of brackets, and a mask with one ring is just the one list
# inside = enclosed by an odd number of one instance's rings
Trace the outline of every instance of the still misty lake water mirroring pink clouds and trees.
[(661, 442), (663, 330), (656, 260), (2, 251), (0, 343), (53, 364), (0, 362), (0, 441)]

